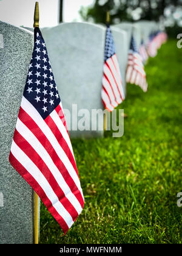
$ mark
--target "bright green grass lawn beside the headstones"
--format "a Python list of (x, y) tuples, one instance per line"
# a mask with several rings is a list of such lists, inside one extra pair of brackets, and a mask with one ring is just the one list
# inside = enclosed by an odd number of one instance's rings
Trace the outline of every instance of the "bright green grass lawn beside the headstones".
[(62, 236), (41, 204), (39, 243), (181, 243), (181, 60), (169, 40), (146, 65), (147, 93), (128, 85), (123, 137), (72, 140), (84, 210)]

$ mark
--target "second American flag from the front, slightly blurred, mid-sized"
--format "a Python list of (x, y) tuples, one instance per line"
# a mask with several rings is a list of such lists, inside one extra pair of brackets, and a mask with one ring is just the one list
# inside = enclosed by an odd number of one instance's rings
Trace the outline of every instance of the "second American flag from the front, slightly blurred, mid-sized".
[(102, 84), (101, 98), (104, 107), (111, 112), (124, 100), (125, 96), (120, 66), (116, 57), (115, 45), (109, 25), (107, 25), (106, 30)]

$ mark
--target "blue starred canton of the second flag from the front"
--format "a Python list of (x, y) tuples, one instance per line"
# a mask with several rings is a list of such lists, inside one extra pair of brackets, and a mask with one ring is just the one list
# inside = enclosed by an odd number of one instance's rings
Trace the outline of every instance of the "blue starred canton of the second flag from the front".
[(113, 37), (111, 34), (110, 27), (109, 25), (107, 25), (104, 60), (106, 61), (107, 59), (112, 57), (112, 55), (114, 54), (115, 54), (115, 44), (113, 42)]

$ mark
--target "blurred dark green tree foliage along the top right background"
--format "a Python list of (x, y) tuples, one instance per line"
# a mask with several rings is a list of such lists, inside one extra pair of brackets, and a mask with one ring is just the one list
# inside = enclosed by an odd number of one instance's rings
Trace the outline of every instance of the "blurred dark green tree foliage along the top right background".
[(84, 21), (106, 23), (121, 21), (154, 20), (166, 27), (169, 36), (176, 37), (182, 28), (182, 0), (95, 0), (89, 7), (81, 7), (79, 14)]

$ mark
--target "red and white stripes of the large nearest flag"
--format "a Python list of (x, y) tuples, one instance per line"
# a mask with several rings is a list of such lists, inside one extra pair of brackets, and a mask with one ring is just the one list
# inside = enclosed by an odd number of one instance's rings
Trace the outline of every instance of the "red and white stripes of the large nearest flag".
[(22, 97), (9, 160), (66, 233), (84, 196), (61, 104), (43, 119)]

